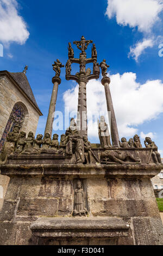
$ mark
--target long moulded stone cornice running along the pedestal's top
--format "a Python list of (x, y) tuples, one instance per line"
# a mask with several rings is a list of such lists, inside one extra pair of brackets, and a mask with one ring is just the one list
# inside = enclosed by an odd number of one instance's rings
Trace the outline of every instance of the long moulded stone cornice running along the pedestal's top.
[(153, 178), (163, 164), (2, 164), (1, 174), (47, 175), (61, 178)]

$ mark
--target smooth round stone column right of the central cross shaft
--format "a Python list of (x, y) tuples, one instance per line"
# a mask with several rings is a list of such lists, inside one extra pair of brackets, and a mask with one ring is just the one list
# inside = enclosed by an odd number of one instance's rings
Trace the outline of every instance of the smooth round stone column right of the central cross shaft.
[(102, 78), (102, 84), (105, 88), (105, 96), (106, 96), (106, 104), (107, 104), (107, 109), (108, 112), (111, 112), (111, 139), (112, 139), (112, 146), (113, 147), (120, 147), (119, 141), (119, 135), (118, 135), (118, 129), (117, 129), (117, 122), (115, 118), (115, 112), (114, 112), (114, 107), (112, 104), (112, 99), (111, 99), (111, 93), (110, 93), (110, 78), (109, 77), (103, 77)]

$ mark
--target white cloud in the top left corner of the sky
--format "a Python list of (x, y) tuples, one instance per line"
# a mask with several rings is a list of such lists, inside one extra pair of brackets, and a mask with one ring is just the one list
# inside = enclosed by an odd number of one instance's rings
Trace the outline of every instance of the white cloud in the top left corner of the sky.
[(26, 23), (17, 9), (16, 0), (0, 0), (0, 41), (5, 46), (11, 42), (22, 45), (29, 38)]

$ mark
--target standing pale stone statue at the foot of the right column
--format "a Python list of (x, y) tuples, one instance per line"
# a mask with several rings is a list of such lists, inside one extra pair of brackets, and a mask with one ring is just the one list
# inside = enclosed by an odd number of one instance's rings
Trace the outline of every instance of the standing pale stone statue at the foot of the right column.
[(102, 148), (112, 148), (108, 125), (105, 123), (105, 118), (103, 116), (100, 118), (100, 122), (98, 121), (98, 136)]

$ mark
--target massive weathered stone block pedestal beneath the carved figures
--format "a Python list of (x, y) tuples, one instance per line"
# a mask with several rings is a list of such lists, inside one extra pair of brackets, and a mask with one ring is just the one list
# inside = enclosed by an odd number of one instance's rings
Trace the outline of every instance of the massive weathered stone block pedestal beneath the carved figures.
[[(19, 164), (9, 157), (1, 166), (1, 173), (10, 177), (0, 214), (1, 245), (163, 244), (150, 180), (161, 164), (77, 166), (54, 164), (54, 156), (47, 164), (48, 157), (30, 156), (35, 164), (27, 164), (26, 156), (17, 159)], [(77, 179), (82, 180), (87, 217), (72, 217)], [(61, 238), (55, 239), (58, 232)]]

